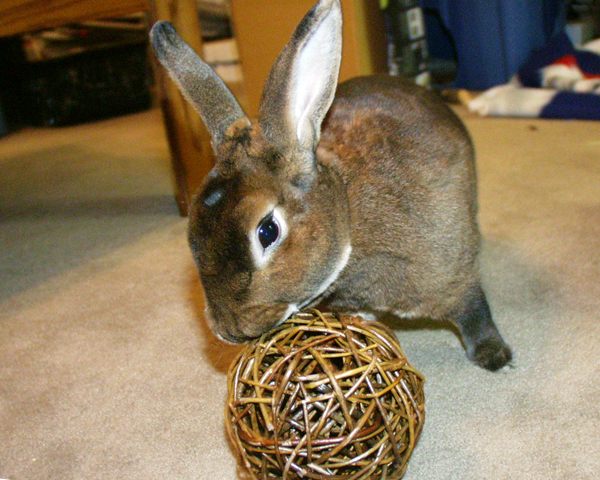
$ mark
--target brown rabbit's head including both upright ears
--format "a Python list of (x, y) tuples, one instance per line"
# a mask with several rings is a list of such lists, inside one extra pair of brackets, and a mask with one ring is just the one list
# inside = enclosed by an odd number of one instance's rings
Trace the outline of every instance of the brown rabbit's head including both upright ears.
[(225, 340), (259, 336), (314, 304), (351, 251), (342, 181), (315, 158), (339, 72), (339, 0), (321, 0), (298, 25), (267, 79), (256, 124), (171, 25), (157, 23), (151, 41), (217, 157), (189, 227), (209, 322)]

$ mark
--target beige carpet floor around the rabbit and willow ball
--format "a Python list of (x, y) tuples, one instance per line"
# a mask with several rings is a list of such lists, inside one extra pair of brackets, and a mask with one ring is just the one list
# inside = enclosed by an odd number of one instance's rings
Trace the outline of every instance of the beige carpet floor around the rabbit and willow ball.
[[(427, 379), (404, 478), (600, 478), (600, 125), (463, 116), (516, 359), (398, 331)], [(156, 111), (0, 139), (0, 478), (243, 478), (167, 158)]]

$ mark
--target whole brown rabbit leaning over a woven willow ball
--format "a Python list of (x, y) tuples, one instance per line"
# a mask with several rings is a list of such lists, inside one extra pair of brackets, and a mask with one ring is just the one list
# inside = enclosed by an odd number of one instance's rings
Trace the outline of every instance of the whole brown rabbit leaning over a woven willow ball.
[(341, 25), (339, 0), (305, 16), (256, 124), (171, 25), (152, 29), (217, 156), (190, 210), (207, 318), (231, 342), (317, 304), (444, 319), (470, 359), (497, 370), (511, 351), (480, 285), (469, 136), (435, 95), (399, 78), (355, 78), (336, 92)]

